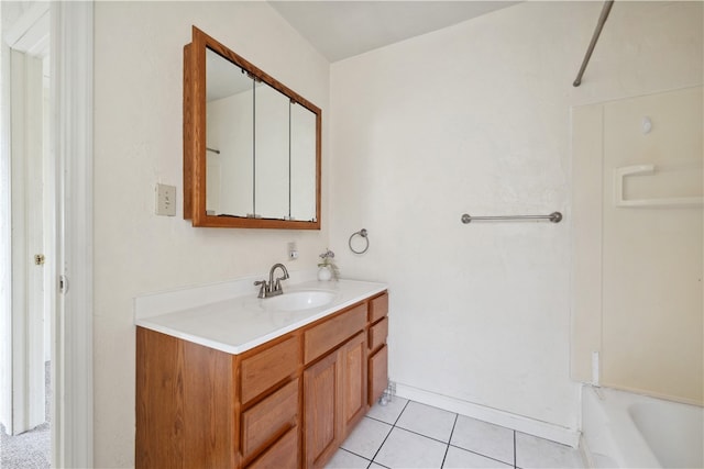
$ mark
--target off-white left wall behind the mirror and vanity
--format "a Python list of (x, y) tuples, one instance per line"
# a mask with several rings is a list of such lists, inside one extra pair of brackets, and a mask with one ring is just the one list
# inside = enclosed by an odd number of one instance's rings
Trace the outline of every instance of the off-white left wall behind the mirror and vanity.
[[(322, 108), (327, 135), (329, 64), (265, 2), (96, 2), (96, 467), (134, 465), (134, 297), (265, 273), (286, 260), (289, 241), (300, 258), (287, 266), (311, 268), (328, 242), (324, 172), (320, 232), (193, 228), (183, 220), (183, 46), (191, 24)], [(154, 215), (156, 182), (177, 186), (176, 217)]]

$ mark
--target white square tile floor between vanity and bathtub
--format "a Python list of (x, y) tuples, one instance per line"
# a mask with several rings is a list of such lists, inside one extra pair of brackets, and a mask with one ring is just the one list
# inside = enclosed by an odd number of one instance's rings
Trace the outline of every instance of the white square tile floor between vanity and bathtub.
[(394, 398), (375, 405), (327, 468), (583, 468), (579, 450)]

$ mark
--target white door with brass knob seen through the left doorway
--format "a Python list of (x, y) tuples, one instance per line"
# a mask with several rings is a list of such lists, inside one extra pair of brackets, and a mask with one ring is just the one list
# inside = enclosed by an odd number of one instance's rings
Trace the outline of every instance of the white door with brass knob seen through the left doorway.
[(11, 52), (12, 414), (8, 432), (45, 422), (42, 58)]

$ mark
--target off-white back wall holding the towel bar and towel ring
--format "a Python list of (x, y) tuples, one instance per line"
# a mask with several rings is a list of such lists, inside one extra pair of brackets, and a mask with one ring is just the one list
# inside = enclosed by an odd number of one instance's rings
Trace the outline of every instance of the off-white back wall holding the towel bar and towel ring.
[(332, 65), (330, 247), (343, 276), (389, 282), (406, 391), (579, 427), (570, 107), (702, 83), (701, 2), (616, 2), (573, 88), (601, 9), (525, 2)]

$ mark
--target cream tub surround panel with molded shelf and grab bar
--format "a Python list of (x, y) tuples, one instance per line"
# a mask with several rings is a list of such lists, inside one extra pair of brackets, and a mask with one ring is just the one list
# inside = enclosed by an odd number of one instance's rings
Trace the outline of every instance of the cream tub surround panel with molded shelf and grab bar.
[(703, 102), (696, 86), (572, 110), (576, 381), (704, 404)]

